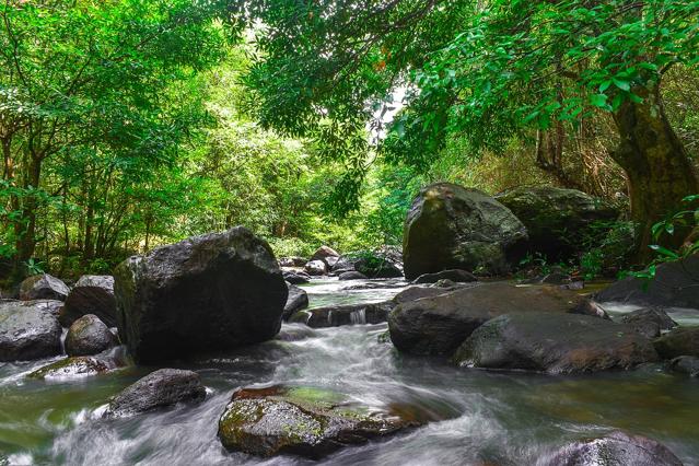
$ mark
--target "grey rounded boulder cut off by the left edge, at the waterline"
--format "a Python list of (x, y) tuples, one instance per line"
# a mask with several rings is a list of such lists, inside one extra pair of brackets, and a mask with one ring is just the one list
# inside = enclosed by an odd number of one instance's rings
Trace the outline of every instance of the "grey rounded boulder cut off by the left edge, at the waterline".
[(0, 303), (0, 362), (61, 353), (58, 318), (40, 302)]

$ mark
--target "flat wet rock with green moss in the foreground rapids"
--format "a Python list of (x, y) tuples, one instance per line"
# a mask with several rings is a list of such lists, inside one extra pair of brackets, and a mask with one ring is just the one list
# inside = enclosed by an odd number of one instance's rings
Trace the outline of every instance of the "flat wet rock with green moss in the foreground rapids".
[(271, 386), (235, 392), (219, 421), (219, 438), (231, 451), (318, 459), (417, 424), (391, 412), (370, 412), (335, 392)]

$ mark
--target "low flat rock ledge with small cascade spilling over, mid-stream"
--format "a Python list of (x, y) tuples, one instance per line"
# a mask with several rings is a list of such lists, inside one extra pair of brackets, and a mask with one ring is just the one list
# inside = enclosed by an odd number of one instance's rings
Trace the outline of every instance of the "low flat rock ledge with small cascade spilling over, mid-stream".
[(315, 307), (295, 313), (289, 322), (305, 324), (313, 328), (339, 327), (341, 325), (381, 324), (386, 322), (393, 303), (345, 304)]

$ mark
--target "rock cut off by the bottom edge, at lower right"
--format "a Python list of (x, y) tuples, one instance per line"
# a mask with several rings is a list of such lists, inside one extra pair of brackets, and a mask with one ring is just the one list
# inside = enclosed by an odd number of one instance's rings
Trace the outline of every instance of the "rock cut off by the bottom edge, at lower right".
[(611, 432), (571, 443), (537, 466), (683, 466), (665, 445), (645, 436)]

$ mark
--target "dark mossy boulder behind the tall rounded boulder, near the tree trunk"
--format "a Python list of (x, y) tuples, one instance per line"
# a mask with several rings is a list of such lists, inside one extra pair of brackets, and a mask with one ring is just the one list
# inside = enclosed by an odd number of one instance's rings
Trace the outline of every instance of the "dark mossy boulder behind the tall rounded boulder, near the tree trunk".
[(551, 260), (563, 259), (585, 248), (585, 240), (598, 221), (617, 219), (608, 202), (576, 189), (552, 186), (512, 189), (497, 199), (524, 223), (529, 234), (527, 249)]

